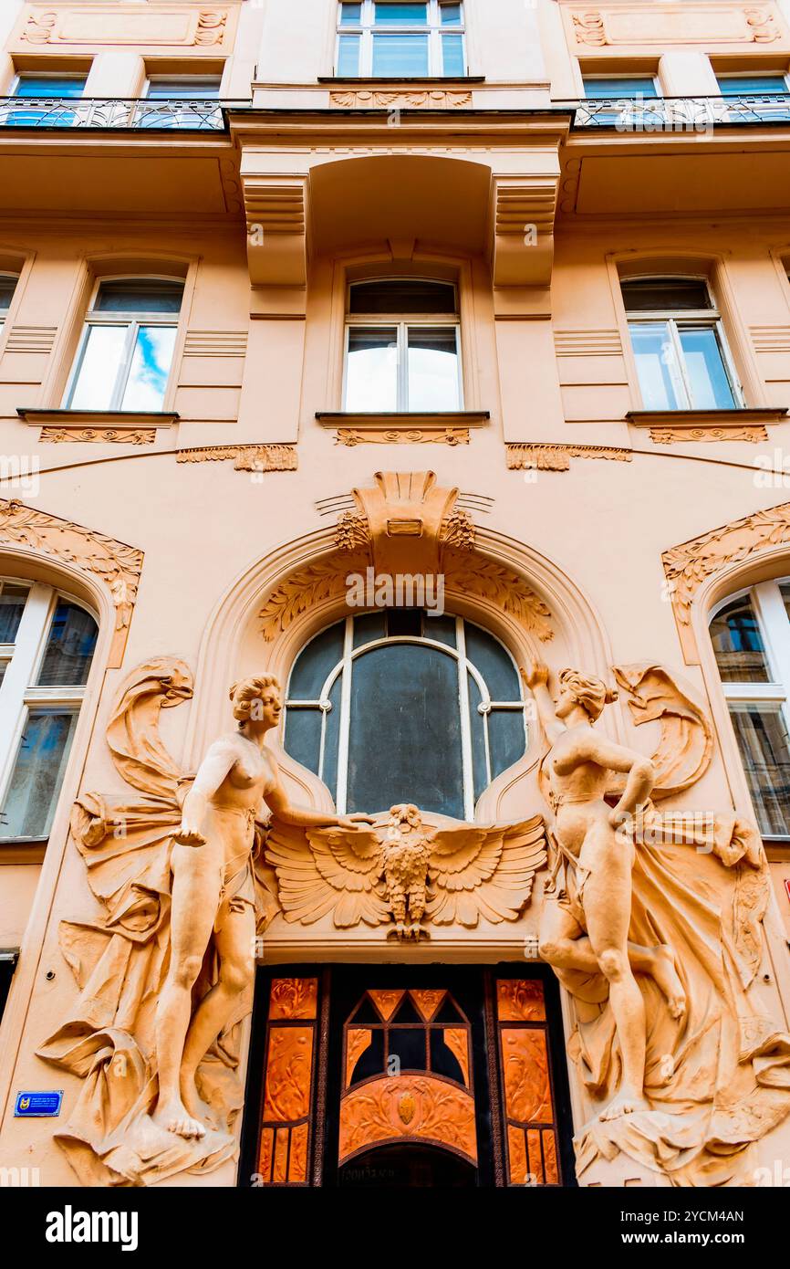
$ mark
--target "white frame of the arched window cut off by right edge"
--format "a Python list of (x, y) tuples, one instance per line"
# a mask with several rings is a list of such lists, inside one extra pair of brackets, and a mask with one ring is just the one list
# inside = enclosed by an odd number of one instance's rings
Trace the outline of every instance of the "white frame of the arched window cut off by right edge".
[[(708, 617), (708, 627), (724, 608), (737, 599), (748, 599), (765, 648), (765, 659), (770, 674), (768, 683), (725, 683), (719, 675), (727, 704), (777, 704), (790, 737), (790, 615), (785, 608), (780, 586), (790, 585), (790, 576), (774, 577), (757, 582), (727, 595), (715, 604)], [(787, 836), (772, 836), (780, 841), (790, 841)]]

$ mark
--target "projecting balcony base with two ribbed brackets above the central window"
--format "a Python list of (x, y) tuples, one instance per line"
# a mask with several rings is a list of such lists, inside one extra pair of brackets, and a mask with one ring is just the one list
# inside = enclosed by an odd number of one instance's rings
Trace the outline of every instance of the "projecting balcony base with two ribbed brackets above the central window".
[(549, 112), (235, 113), (251, 282), (303, 288), (309, 256), (410, 240), (487, 256), (497, 288), (547, 287), (568, 126)]

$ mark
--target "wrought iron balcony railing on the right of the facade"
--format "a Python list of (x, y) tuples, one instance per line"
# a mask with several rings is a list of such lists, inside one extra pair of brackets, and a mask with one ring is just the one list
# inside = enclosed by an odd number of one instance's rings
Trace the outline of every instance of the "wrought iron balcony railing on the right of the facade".
[(716, 124), (790, 123), (790, 93), (586, 98), (576, 103), (573, 123), (618, 132), (706, 132)]

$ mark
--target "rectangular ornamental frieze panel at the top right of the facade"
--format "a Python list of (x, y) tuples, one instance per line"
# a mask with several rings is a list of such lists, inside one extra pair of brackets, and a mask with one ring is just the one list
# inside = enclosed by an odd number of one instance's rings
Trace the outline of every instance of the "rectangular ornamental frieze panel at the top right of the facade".
[(633, 4), (573, 9), (576, 44), (772, 44), (782, 39), (774, 5)]

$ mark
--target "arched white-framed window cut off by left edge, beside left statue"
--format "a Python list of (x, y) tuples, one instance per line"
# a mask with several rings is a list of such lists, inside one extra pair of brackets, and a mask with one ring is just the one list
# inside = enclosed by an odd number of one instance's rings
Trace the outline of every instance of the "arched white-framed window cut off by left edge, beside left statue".
[(0, 840), (49, 832), (96, 633), (55, 588), (0, 580)]

